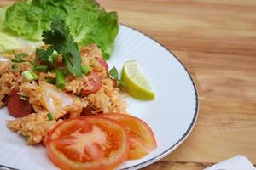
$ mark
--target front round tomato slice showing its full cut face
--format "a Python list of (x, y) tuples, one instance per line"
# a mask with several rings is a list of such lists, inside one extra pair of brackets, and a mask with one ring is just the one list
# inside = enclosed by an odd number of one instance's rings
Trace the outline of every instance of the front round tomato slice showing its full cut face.
[(105, 117), (76, 117), (58, 124), (49, 133), (46, 149), (61, 169), (113, 169), (127, 158), (125, 128)]

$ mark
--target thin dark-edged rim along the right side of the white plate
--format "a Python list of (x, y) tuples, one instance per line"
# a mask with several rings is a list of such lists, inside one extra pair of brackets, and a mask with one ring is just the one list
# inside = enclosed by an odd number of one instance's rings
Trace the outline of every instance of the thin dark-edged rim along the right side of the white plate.
[(120, 170), (136, 170), (136, 169), (140, 169), (140, 168), (143, 168), (143, 167), (147, 167), (148, 165), (151, 165), (153, 164), (154, 162), (156, 161), (159, 161), (161, 158), (167, 156), (168, 154), (170, 154), (173, 150), (176, 150), (177, 147), (183, 143), (183, 141), (185, 139), (188, 138), (189, 134), (192, 132), (192, 129), (195, 127), (195, 122), (197, 120), (197, 117), (198, 117), (198, 114), (199, 114), (199, 96), (198, 96), (198, 90), (196, 88), (196, 84), (195, 84), (195, 81), (193, 80), (193, 77), (191, 76), (190, 72), (188, 71), (188, 69), (186, 68), (186, 66), (183, 64), (183, 62), (177, 58), (177, 56), (175, 54), (172, 53), (172, 50), (166, 48), (165, 45), (163, 45), (161, 42), (157, 41), (156, 39), (154, 39), (153, 37), (150, 37), (148, 34), (144, 33), (143, 31), (139, 31), (137, 30), (137, 28), (134, 28), (134, 27), (131, 27), (131, 26), (128, 26), (124, 23), (119, 23), (119, 26), (125, 26), (126, 28), (128, 29), (131, 29), (133, 31), (137, 31), (137, 33), (141, 33), (143, 34), (143, 36), (145, 37), (148, 37), (150, 40), (158, 43), (162, 48), (165, 48), (166, 51), (170, 54), (172, 54), (172, 56), (177, 59), (177, 62), (183, 67), (183, 69), (187, 72), (189, 78), (190, 78), (190, 81), (192, 82), (192, 85), (193, 85), (193, 88), (194, 88), (194, 92), (195, 92), (195, 112), (194, 112), (194, 116), (193, 116), (193, 119), (192, 119), (192, 122), (190, 123), (188, 129), (186, 130), (185, 133), (183, 133), (183, 136), (177, 140), (177, 142), (175, 144), (172, 144), (171, 147), (169, 147), (167, 150), (163, 151), (162, 153), (160, 153), (159, 155), (157, 156), (154, 156), (153, 158), (147, 160), (147, 161), (143, 161), (141, 163), (138, 163), (137, 165), (133, 165), (131, 167), (125, 167), (125, 168), (121, 168)]

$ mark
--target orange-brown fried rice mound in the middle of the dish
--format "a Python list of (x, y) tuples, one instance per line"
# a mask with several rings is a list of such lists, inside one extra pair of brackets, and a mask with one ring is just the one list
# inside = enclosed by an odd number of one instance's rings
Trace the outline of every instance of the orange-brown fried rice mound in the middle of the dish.
[[(9, 94), (14, 89), (20, 96), (32, 105), (33, 113), (14, 120), (7, 121), (7, 126), (16, 133), (26, 137), (27, 144), (44, 143), (49, 131), (59, 122), (70, 117), (86, 114), (104, 114), (108, 112), (125, 113), (125, 95), (117, 87), (116, 82), (108, 76), (108, 70), (97, 61), (102, 58), (102, 52), (95, 44), (80, 50), (82, 64), (87, 65), (90, 71), (101, 77), (102, 86), (96, 93), (81, 95), (86, 82), (90, 81), (88, 75), (73, 77), (68, 75), (65, 79), (66, 86), (58, 89), (46, 79), (56, 77), (55, 72), (38, 72), (38, 80), (27, 82), (22, 77), (22, 71), (31, 69), (29, 63), (14, 64), (10, 61), (14, 56), (9, 54), (9, 59), (0, 61), (0, 107), (6, 105)], [(26, 59), (33, 60), (35, 53)], [(14, 67), (18, 65), (18, 69)], [(55, 65), (62, 65), (61, 55)], [(14, 104), (15, 105), (15, 104)], [(54, 120), (49, 120), (49, 112)]]

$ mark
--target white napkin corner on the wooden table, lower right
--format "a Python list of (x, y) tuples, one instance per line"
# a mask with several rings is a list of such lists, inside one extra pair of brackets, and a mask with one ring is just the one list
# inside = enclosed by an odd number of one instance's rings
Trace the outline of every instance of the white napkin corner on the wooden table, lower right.
[(228, 160), (221, 161), (205, 170), (256, 170), (253, 164), (245, 156), (235, 156)]

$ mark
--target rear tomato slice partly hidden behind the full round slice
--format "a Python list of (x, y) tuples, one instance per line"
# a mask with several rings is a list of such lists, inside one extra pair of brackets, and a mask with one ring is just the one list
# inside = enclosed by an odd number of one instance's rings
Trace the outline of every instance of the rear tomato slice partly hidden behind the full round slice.
[(120, 113), (108, 113), (102, 116), (116, 120), (125, 127), (130, 140), (128, 160), (136, 160), (147, 156), (149, 152), (157, 147), (154, 133), (143, 120), (135, 116)]

